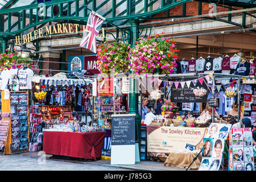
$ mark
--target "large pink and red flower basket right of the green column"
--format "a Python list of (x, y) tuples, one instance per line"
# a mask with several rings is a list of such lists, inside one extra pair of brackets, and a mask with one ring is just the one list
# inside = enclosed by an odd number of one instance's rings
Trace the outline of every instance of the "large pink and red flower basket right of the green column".
[(156, 68), (163, 69), (167, 73), (172, 73), (177, 67), (176, 43), (172, 39), (165, 39), (162, 35), (155, 37), (148, 36), (136, 42), (136, 46), (131, 49), (130, 69), (134, 74), (141, 75), (153, 73)]

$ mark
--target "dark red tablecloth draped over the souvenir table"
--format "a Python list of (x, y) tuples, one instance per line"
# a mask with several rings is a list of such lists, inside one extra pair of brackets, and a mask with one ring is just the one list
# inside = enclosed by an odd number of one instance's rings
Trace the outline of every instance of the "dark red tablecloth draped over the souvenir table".
[(76, 158), (101, 158), (106, 131), (89, 133), (44, 131), (43, 151), (46, 154)]

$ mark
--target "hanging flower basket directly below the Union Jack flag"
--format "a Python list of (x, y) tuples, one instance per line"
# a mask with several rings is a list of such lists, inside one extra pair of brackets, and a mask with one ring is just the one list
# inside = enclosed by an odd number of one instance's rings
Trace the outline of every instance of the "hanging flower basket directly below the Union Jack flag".
[(110, 73), (129, 72), (129, 52), (130, 46), (125, 43), (104, 42), (97, 48), (97, 68), (100, 73), (110, 75)]

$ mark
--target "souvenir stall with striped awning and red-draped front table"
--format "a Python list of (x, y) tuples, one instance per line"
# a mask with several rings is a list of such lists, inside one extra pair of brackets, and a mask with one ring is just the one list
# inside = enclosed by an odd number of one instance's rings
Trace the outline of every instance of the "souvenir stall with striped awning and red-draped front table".
[(92, 80), (58, 74), (33, 79), (39, 89), (30, 107), (31, 150), (43, 143), (46, 154), (100, 159), (106, 131), (91, 122)]

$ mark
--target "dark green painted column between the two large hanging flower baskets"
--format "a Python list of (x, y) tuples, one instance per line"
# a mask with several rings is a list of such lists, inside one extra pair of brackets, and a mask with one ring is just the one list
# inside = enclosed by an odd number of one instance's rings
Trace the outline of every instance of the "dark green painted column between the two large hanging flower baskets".
[[(131, 24), (131, 47), (135, 47), (136, 41), (139, 38), (138, 34), (138, 20), (129, 20)], [(131, 72), (130, 72), (131, 73)], [(139, 155), (141, 155), (141, 115), (138, 113), (139, 104), (139, 79), (130, 78), (130, 90), (129, 90), (129, 114), (136, 114), (136, 132), (139, 144)]]

